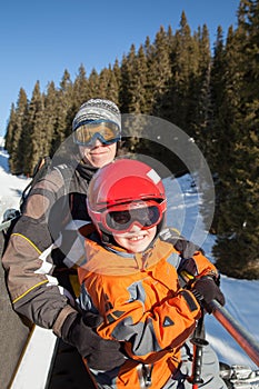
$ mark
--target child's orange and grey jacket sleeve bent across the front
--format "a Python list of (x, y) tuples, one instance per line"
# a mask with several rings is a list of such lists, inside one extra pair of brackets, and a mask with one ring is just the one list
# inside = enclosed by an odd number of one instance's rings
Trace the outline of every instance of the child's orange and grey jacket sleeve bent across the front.
[(199, 305), (187, 290), (169, 292), (161, 303), (146, 310), (141, 291), (132, 299), (121, 280), (107, 285), (99, 276), (84, 286), (104, 317), (98, 333), (106, 339), (124, 341), (126, 351), (133, 359), (146, 360), (158, 351), (181, 346), (200, 317)]

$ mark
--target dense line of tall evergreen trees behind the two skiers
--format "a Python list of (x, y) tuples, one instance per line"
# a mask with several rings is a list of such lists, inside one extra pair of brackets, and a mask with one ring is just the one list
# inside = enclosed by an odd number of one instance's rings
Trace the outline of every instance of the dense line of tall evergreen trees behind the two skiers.
[[(213, 49), (207, 26), (190, 30), (185, 12), (179, 28), (160, 27), (119, 61), (92, 69), (83, 64), (74, 81), (68, 70), (58, 87), (31, 99), (20, 89), (12, 104), (6, 149), (12, 173), (31, 174), (41, 156), (53, 156), (71, 133), (72, 119), (91, 97), (113, 100), (122, 113), (145, 113), (181, 128), (202, 151), (212, 172), (217, 233), (213, 256), (220, 271), (259, 278), (259, 0), (240, 0), (237, 26), (223, 37), (219, 26)], [(165, 157), (165, 150), (133, 140), (136, 151)], [(167, 154), (167, 152), (166, 152)], [(182, 166), (175, 164), (179, 173)], [(177, 171), (179, 170), (179, 171)], [(206, 205), (206, 202), (205, 202)]]

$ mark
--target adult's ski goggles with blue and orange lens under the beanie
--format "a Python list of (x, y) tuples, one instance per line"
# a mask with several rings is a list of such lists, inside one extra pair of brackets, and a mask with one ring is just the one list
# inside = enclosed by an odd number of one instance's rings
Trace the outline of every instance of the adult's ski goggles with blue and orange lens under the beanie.
[(86, 121), (73, 131), (73, 141), (79, 146), (91, 146), (99, 139), (103, 144), (120, 140), (120, 128), (109, 120)]

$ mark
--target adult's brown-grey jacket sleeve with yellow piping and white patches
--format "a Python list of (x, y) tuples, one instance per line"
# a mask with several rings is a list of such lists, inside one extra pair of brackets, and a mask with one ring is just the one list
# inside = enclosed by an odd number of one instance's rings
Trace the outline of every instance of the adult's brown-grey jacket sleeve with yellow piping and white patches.
[(56, 325), (57, 332), (74, 311), (68, 293), (52, 275), (49, 212), (62, 192), (61, 187), (62, 178), (57, 171), (36, 184), (2, 258), (13, 309), (43, 328)]

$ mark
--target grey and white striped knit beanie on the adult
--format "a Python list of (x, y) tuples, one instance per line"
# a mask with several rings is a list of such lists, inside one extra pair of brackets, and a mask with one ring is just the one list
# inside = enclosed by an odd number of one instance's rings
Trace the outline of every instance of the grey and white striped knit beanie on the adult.
[(119, 126), (121, 131), (121, 116), (117, 104), (110, 100), (90, 99), (84, 102), (72, 122), (72, 130), (76, 131), (80, 126), (86, 124), (87, 121), (109, 120)]

